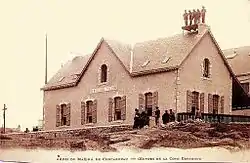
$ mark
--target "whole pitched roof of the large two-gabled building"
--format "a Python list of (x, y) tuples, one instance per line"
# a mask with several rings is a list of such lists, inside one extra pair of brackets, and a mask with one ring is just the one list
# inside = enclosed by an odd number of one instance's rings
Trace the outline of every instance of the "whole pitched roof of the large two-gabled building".
[[(178, 34), (168, 38), (137, 43), (134, 47), (102, 38), (91, 55), (77, 57), (69, 61), (49, 80), (48, 84), (42, 90), (76, 86), (102, 43), (108, 45), (108, 48), (117, 57), (128, 74), (133, 77), (177, 69), (207, 33), (210, 34), (218, 50), (221, 51), (210, 30), (207, 28), (199, 31), (199, 33)], [(220, 55), (228, 70), (233, 75), (222, 52), (220, 52)], [(74, 74), (78, 75), (72, 77)]]

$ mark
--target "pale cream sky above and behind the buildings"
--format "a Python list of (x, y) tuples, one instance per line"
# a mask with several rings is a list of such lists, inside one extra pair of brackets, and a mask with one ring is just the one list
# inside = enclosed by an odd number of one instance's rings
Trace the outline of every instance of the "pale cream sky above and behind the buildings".
[(7, 127), (42, 119), (46, 32), (50, 78), (101, 37), (133, 44), (181, 33), (183, 10), (202, 5), (222, 49), (250, 45), (248, 0), (0, 0), (0, 124), (4, 103)]

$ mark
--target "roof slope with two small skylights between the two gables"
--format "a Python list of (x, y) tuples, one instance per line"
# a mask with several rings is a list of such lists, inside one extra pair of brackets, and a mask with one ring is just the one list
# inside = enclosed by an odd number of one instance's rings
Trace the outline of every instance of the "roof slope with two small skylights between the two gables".
[(178, 34), (135, 44), (132, 74), (178, 67), (203, 34)]

